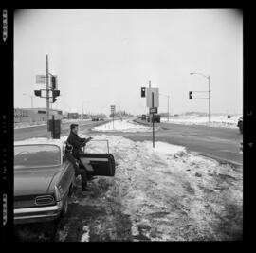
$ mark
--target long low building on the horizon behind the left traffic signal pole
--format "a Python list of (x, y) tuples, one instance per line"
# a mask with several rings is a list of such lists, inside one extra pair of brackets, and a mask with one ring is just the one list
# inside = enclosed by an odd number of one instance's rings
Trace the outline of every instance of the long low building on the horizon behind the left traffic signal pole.
[[(49, 109), (50, 117), (55, 119), (63, 118), (62, 110)], [(40, 122), (47, 120), (46, 108), (14, 108), (14, 123), (19, 122)]]

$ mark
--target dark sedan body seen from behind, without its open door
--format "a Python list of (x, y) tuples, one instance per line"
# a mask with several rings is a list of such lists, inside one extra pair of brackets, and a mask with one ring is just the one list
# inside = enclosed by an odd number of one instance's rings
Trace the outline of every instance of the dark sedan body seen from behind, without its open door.
[(14, 224), (65, 215), (74, 169), (60, 140), (14, 144)]

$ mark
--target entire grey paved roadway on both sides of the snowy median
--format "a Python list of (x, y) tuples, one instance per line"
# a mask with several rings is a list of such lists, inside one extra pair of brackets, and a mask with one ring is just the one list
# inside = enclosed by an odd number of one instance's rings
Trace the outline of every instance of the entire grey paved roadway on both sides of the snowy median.
[[(147, 122), (136, 120), (148, 125)], [(88, 130), (88, 135), (99, 135), (90, 128), (105, 122), (79, 121), (80, 129)], [(69, 133), (70, 123), (62, 124), (62, 136)], [(165, 141), (174, 145), (185, 146), (188, 151), (204, 154), (219, 160), (227, 160), (236, 164), (243, 164), (243, 154), (239, 154), (240, 142), (243, 136), (238, 129), (217, 128), (200, 125), (179, 125), (170, 123), (156, 123), (160, 127), (155, 132), (155, 141)], [(114, 133), (104, 133), (113, 135)], [(115, 132), (117, 136), (124, 136), (134, 141), (152, 140), (151, 132), (122, 133)], [(46, 126), (29, 127), (14, 130), (14, 139), (22, 140), (29, 137), (46, 137)]]

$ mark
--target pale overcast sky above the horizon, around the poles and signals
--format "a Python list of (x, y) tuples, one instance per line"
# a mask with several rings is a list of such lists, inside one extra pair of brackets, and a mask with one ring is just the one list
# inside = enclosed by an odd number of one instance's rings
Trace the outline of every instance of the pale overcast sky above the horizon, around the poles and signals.
[[(36, 75), (58, 76), (53, 108), (143, 114), (140, 87), (170, 95), (172, 114), (243, 110), (243, 16), (237, 9), (21, 9), (14, 16), (14, 107), (30, 107)], [(160, 95), (158, 112), (167, 111)], [(194, 93), (205, 98), (207, 93)], [(34, 107), (46, 99), (33, 96)]]

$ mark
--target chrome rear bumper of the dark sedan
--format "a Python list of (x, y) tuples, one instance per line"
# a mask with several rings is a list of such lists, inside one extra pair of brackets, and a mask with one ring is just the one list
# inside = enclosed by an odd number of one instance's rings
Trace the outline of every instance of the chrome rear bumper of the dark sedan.
[(14, 209), (14, 224), (47, 222), (57, 219), (62, 211), (62, 201), (55, 206)]

